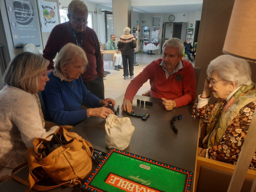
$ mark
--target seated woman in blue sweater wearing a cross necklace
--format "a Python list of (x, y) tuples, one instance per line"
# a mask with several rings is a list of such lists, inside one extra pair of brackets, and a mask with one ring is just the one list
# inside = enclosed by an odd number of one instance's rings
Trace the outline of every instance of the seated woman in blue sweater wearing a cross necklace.
[[(68, 43), (61, 48), (55, 69), (48, 74), (50, 80), (42, 92), (47, 120), (56, 124), (75, 124), (90, 116), (105, 119), (113, 114), (110, 108), (102, 106), (115, 106), (115, 100), (101, 100), (86, 89), (80, 75), (87, 65), (88, 60), (81, 47)], [(98, 108), (82, 109), (81, 104)]]

